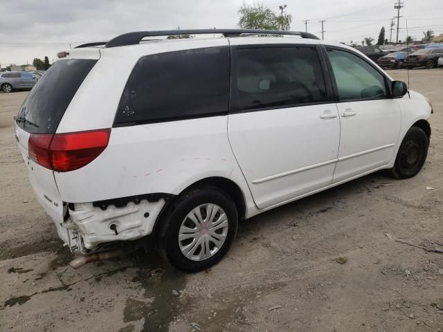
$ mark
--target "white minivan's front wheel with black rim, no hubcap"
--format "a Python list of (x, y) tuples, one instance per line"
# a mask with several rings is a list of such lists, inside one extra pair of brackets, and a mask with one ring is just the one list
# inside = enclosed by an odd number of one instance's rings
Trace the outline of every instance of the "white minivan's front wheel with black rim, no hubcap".
[(394, 178), (412, 178), (422, 169), (428, 155), (429, 140), (423, 129), (411, 127), (401, 142), (390, 173)]

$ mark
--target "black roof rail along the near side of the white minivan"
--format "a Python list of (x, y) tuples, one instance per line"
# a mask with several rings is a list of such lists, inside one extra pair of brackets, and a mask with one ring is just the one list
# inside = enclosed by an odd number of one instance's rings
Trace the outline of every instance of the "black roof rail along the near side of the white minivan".
[[(172, 36), (172, 35), (206, 35), (221, 34), (224, 37), (239, 37), (246, 34), (254, 35), (296, 35), (302, 38), (320, 39), (311, 33), (301, 31), (282, 31), (282, 30), (257, 30), (257, 29), (195, 29), (195, 30), (157, 30), (157, 31), (136, 31), (134, 33), (125, 33), (111, 39), (105, 45), (106, 48), (136, 45), (145, 37)], [(93, 43), (90, 43), (93, 44)], [(82, 46), (82, 45), (80, 45)], [(77, 47), (80, 47), (77, 46)], [(87, 46), (84, 46), (87, 47)]]

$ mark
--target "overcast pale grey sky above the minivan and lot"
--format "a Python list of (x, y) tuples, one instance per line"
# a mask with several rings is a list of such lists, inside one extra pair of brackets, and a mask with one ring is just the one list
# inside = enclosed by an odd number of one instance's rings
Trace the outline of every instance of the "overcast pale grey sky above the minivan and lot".
[[(185, 28), (237, 28), (237, 10), (255, 0), (0, 0), (0, 65), (32, 64), (84, 42), (109, 40), (137, 30)], [(382, 26), (390, 38), (390, 20), (397, 15), (395, 0), (263, 0), (264, 6), (292, 15), (291, 30), (307, 30), (325, 40), (361, 44), (364, 37), (377, 41)], [(442, 0), (404, 0), (399, 39), (422, 38), (422, 31), (443, 33)], [(397, 28), (397, 19), (395, 19)], [(396, 30), (392, 31), (395, 41)]]

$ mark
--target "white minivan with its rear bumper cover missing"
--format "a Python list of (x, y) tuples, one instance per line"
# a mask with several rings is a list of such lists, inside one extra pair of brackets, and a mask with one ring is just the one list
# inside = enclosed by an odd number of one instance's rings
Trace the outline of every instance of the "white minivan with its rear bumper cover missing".
[(297, 32), (179, 33), (210, 38), (145, 31), (59, 53), (15, 118), (37, 199), (72, 252), (93, 254), (82, 263), (152, 234), (171, 264), (203, 270), (238, 219), (422, 168), (431, 103), (354, 48)]

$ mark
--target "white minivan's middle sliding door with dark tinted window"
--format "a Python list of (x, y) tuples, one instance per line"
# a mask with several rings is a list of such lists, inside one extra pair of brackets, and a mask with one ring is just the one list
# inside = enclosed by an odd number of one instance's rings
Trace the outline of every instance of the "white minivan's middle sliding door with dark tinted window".
[(258, 208), (332, 183), (340, 122), (315, 46), (232, 51), (228, 137)]

